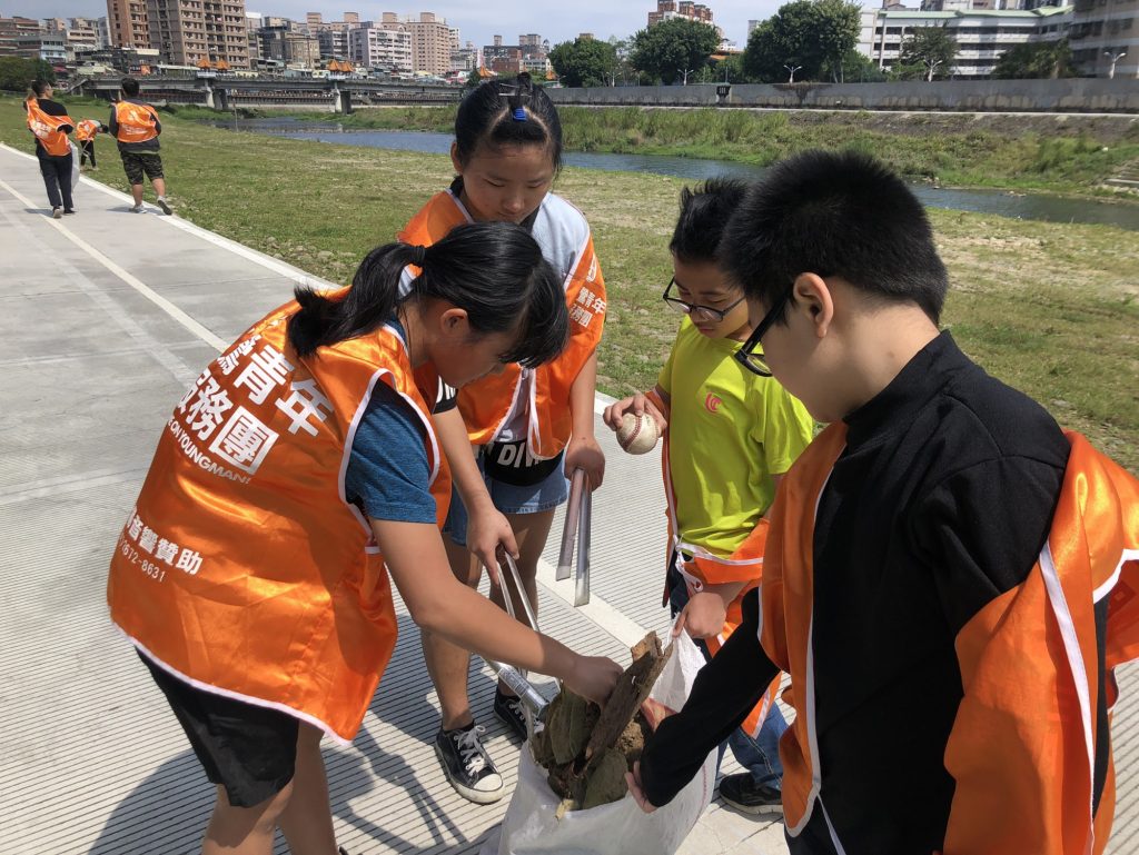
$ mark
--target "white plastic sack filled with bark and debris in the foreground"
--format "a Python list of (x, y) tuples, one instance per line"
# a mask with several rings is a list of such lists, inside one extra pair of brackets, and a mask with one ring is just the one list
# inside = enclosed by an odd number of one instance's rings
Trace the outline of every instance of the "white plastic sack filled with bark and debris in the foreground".
[[(680, 709), (703, 666), (700, 651), (681, 633), (649, 697), (669, 709)], [(530, 746), (524, 746), (510, 806), (480, 855), (670, 855), (680, 848), (712, 799), (715, 762), (713, 750), (696, 778), (650, 814), (626, 792), (620, 801), (568, 811), (558, 820), (555, 812), (562, 799), (546, 782), (546, 772), (534, 763)]]

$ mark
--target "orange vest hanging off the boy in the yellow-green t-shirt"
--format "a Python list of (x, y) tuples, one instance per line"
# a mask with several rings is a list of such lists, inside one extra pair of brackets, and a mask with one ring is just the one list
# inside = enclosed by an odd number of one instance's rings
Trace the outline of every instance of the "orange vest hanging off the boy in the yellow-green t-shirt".
[[(650, 390), (648, 397), (661, 410), (664, 410), (664, 402), (656, 390)], [(667, 502), (669, 513), (669, 558), (677, 556), (677, 572), (685, 579), (688, 587), (688, 595), (699, 593), (705, 585), (722, 585), (729, 582), (746, 582), (740, 592), (728, 605), (728, 614), (724, 616), (723, 628), (718, 635), (705, 639), (708, 652), (715, 656), (716, 651), (723, 647), (731, 634), (744, 622), (743, 602), (744, 597), (749, 591), (760, 586), (763, 577), (763, 549), (768, 540), (768, 520), (761, 519), (752, 533), (744, 539), (736, 551), (728, 557), (718, 556), (699, 544), (688, 543), (679, 536), (680, 525), (677, 521), (677, 496), (672, 490), (672, 470), (669, 465), (669, 431), (664, 433), (664, 442), (661, 451), (661, 469), (664, 475), (664, 498)], [(681, 556), (691, 556), (680, 560)], [(667, 605), (669, 590), (665, 581), (664, 602)], [(779, 677), (771, 681), (771, 685), (764, 693), (763, 699), (755, 705), (747, 718), (740, 724), (740, 729), (756, 739), (763, 720), (767, 718), (768, 710), (779, 697)]]

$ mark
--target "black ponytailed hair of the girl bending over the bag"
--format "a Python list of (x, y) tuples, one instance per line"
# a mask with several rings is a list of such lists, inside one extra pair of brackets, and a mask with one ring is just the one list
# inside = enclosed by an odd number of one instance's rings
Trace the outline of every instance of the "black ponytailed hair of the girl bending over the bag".
[[(401, 297), (409, 264), (420, 273)], [(368, 253), (342, 297), (311, 288), (295, 294), (301, 310), (289, 320), (288, 338), (301, 356), (375, 331), (404, 301), (445, 301), (466, 310), (476, 332), (517, 329), (503, 362), (533, 368), (556, 357), (570, 340), (562, 278), (530, 232), (514, 223), (458, 225), (429, 247), (386, 244)]]

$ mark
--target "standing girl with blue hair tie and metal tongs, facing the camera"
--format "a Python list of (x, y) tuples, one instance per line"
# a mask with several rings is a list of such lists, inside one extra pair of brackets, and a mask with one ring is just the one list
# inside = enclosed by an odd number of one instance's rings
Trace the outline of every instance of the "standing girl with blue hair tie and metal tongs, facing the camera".
[[(596, 490), (605, 474), (593, 435), (605, 281), (585, 217), (550, 192), (562, 163), (562, 124), (528, 74), (490, 80), (470, 92), (459, 105), (454, 135), (451, 162), (458, 176), (400, 239), (432, 244), (461, 223), (518, 223), (557, 271), (570, 312), (570, 344), (556, 360), (532, 369), (507, 365), (457, 395), (443, 389), (435, 408), (456, 482), (444, 528), (451, 568), (475, 586), (482, 567), (495, 566), (501, 543), (517, 556), (536, 610), (538, 559), (554, 510), (566, 500), (566, 477), (583, 469)], [(524, 614), (521, 605), (517, 614)], [(436, 751), (448, 780), (473, 801), (497, 801), (505, 789), (490, 757), (457, 750), (482, 732), (467, 693), (469, 653), (431, 632), (423, 633), (423, 646), (442, 707)], [(525, 739), (521, 704), (506, 687), (495, 693), (494, 712)]]

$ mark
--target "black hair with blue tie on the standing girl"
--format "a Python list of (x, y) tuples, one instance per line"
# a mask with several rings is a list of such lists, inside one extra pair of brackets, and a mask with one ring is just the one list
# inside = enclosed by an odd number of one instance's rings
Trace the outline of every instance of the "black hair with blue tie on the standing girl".
[(562, 120), (554, 101), (530, 74), (483, 81), (454, 116), (459, 163), (469, 163), (480, 146), (547, 146), (554, 171), (562, 167)]

